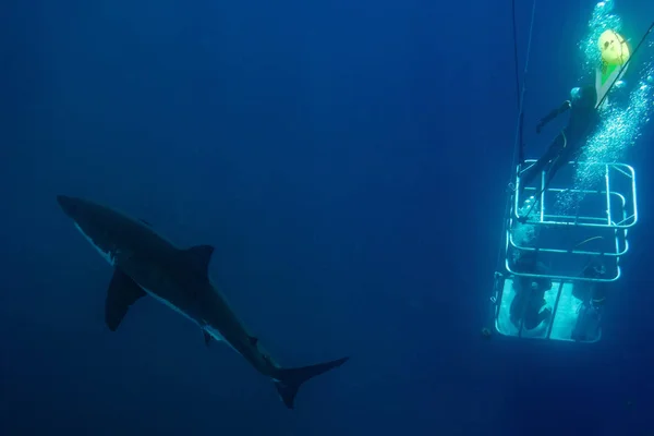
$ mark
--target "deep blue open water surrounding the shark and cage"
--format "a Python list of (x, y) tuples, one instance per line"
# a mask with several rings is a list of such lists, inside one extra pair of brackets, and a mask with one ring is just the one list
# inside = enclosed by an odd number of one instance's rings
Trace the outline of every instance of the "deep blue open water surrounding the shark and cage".
[[(652, 434), (652, 124), (604, 340), (482, 340), (517, 113), (510, 2), (436, 3), (4, 2), (0, 434)], [(534, 155), (593, 5), (538, 2)], [(633, 38), (654, 16), (618, 8)], [(215, 245), (215, 281), (284, 365), (352, 360), (288, 411), (155, 301), (111, 334), (111, 270), (60, 193)]]

